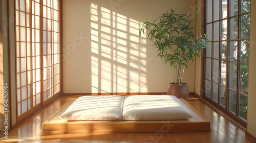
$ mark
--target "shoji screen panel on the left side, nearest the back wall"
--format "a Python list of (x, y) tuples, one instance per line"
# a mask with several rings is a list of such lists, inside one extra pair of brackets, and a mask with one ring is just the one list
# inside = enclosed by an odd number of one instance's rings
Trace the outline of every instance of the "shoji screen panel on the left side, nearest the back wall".
[(59, 92), (60, 78), (60, 33), (59, 2), (47, 0), (43, 3), (43, 55), (44, 55), (44, 101)]

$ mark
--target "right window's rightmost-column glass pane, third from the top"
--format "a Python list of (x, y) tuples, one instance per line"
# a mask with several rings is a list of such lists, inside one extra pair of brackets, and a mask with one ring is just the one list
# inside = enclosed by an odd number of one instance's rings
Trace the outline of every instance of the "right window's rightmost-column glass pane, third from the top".
[(240, 62), (249, 63), (249, 46), (249, 40), (240, 42)]

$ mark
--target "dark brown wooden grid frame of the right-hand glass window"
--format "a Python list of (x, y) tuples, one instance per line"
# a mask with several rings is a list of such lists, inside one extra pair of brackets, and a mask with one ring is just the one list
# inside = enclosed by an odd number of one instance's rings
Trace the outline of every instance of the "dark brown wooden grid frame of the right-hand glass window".
[[(208, 102), (210, 102), (211, 104), (213, 104), (213, 105), (215, 105), (215, 106), (217, 106), (218, 108), (220, 108), (223, 112), (225, 112), (229, 117), (231, 117), (231, 118), (233, 118), (234, 120), (236, 120), (236, 121), (238, 121), (240, 124), (242, 124), (244, 127), (246, 127), (247, 126), (247, 122), (242, 118), (242, 117), (240, 117), (239, 116), (239, 97), (240, 97), (240, 94), (242, 94), (243, 96), (246, 96), (246, 97), (248, 97), (248, 95), (247, 94), (243, 94), (243, 93), (241, 93), (240, 91), (239, 91), (239, 88), (240, 88), (240, 65), (241, 64), (245, 64), (245, 65), (249, 65), (249, 62), (248, 63), (244, 63), (244, 62), (241, 62), (240, 61), (240, 57), (241, 57), (241, 55), (240, 55), (240, 50), (241, 50), (241, 47), (239, 47), (240, 46), (240, 43), (242, 42), (242, 41), (244, 41), (244, 40), (250, 40), (249, 38), (247, 38), (247, 39), (242, 39), (240, 36), (240, 31), (241, 31), (241, 19), (240, 19), (240, 17), (241, 16), (243, 16), (243, 15), (246, 15), (246, 14), (250, 14), (250, 11), (248, 11), (248, 12), (244, 12), (244, 13), (240, 13), (240, 11), (241, 11), (241, 1), (242, 0), (238, 0), (238, 3), (239, 3), (239, 6), (238, 6), (238, 14), (236, 15), (236, 14), (234, 14), (233, 16), (229, 16), (230, 15), (230, 13), (229, 13), (229, 11), (230, 11), (230, 1), (228, 0), (227, 1), (227, 16), (226, 16), (226, 18), (222, 18), (222, 12), (221, 12), (221, 10), (222, 10), (222, 1), (220, 0), (219, 2), (219, 19), (218, 20), (214, 20), (214, 1), (211, 1), (211, 21), (210, 22), (208, 22), (207, 21), (207, 0), (203, 0), (202, 1), (202, 26), (203, 26), (203, 29), (202, 29), (202, 35), (203, 34), (205, 34), (206, 33), (206, 26), (209, 24), (209, 23), (211, 23), (211, 25), (213, 25), (212, 23), (215, 23), (215, 22), (217, 22), (217, 21), (220, 21), (219, 22), (219, 40), (216, 40), (216, 41), (214, 41), (214, 42), (219, 42), (219, 57), (216, 59), (216, 58), (214, 58), (214, 52), (213, 52), (213, 48), (214, 48), (214, 45), (213, 44), (211, 44), (211, 47), (209, 47), (209, 49), (211, 49), (211, 57), (207, 57), (207, 55), (206, 55), (206, 50), (204, 50), (203, 51), (203, 54), (202, 54), (202, 61), (201, 61), (201, 67), (203, 67), (203, 68), (201, 68), (201, 89), (203, 89), (203, 90), (201, 90), (201, 97), (203, 97), (204, 99), (206, 99)], [(234, 18), (234, 17), (238, 17), (238, 37), (237, 37), (237, 39), (230, 39), (229, 38), (229, 32), (230, 32), (230, 27), (229, 27), (229, 19), (231, 19), (231, 18)], [(221, 38), (221, 36), (222, 36), (222, 34), (221, 34), (221, 32), (222, 32), (222, 30), (221, 30), (221, 21), (223, 21), (223, 20), (226, 20), (226, 22), (227, 22), (227, 30), (226, 30), (226, 39), (225, 40), (223, 40), (222, 38)], [(211, 36), (212, 36), (212, 33), (214, 32), (213, 31), (213, 29), (214, 29), (214, 26), (211, 26)], [(210, 39), (211, 40), (211, 39)], [(237, 52), (238, 52), (238, 57), (237, 57), (237, 61), (230, 61), (229, 60), (229, 42), (230, 41), (238, 41), (238, 50), (237, 50)], [(222, 59), (221, 58), (221, 44), (222, 44), (222, 42), (226, 42), (226, 59)], [(211, 60), (211, 73), (210, 73), (210, 80), (208, 80), (208, 79), (206, 79), (206, 59), (210, 59)], [(215, 82), (213, 82), (213, 79), (212, 79), (212, 77), (213, 77), (213, 73), (212, 73), (212, 71), (213, 71), (213, 69), (212, 69), (212, 67), (213, 67), (213, 61), (214, 60), (218, 60), (219, 61), (219, 63), (222, 63), (222, 61), (225, 61), (226, 62), (226, 69), (225, 69), (225, 71), (226, 71), (226, 79), (225, 79), (225, 85), (223, 86), (222, 84), (221, 84), (221, 82), (220, 82), (220, 80), (221, 80), (221, 64), (219, 64), (218, 65), (218, 71), (219, 71), (219, 73), (218, 73), (218, 82), (216, 83), (217, 85), (218, 85), (218, 100), (217, 100), (217, 102), (215, 102), (215, 101), (213, 101), (212, 99), (212, 83), (215, 83)], [(230, 71), (229, 71), (229, 64), (230, 64), (230, 62), (233, 62), (233, 63), (235, 63), (236, 65), (237, 65), (237, 82), (236, 82), (236, 85), (237, 85), (237, 89), (236, 90), (232, 90), (231, 88), (229, 88), (229, 75), (230, 75)], [(238, 76), (239, 75), (239, 76)], [(210, 97), (207, 97), (206, 96), (206, 81), (209, 81), (211, 84), (211, 86), (210, 86)], [(223, 106), (223, 105), (221, 105), (221, 99), (220, 99), (220, 87), (225, 87), (225, 105)], [(231, 91), (234, 91), (234, 92), (236, 92), (236, 112), (235, 113), (233, 113), (233, 112), (231, 112), (230, 110), (229, 110), (229, 108), (228, 108), (228, 100), (229, 100), (229, 98), (228, 98), (228, 91), (231, 89)]]

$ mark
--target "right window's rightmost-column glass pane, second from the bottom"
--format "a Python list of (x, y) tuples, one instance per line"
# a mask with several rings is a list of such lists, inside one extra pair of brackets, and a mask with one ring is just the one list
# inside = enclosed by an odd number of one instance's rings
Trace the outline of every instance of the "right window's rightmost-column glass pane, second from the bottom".
[(248, 94), (248, 70), (249, 65), (248, 64), (240, 64), (240, 87), (239, 91)]

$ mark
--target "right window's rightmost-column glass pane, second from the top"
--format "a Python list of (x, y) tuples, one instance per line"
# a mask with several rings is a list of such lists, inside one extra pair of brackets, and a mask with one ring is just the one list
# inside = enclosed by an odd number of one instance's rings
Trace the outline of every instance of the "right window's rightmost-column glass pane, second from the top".
[(250, 14), (241, 16), (241, 39), (250, 38)]

